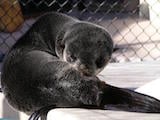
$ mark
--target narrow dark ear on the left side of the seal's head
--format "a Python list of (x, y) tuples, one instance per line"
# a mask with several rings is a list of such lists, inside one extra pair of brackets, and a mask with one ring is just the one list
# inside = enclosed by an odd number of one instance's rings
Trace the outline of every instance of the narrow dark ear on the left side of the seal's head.
[(65, 48), (65, 43), (64, 43), (64, 31), (61, 31), (57, 37), (56, 37), (56, 44), (55, 44), (55, 50), (56, 54), (58, 57), (63, 58), (63, 50)]

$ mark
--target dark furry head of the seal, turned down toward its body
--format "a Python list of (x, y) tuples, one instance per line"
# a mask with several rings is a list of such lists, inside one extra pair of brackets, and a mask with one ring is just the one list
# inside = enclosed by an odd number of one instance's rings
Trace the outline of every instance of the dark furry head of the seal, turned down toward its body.
[(57, 40), (56, 52), (84, 75), (98, 74), (109, 62), (113, 42), (108, 32), (87, 22), (69, 27), (63, 39)]

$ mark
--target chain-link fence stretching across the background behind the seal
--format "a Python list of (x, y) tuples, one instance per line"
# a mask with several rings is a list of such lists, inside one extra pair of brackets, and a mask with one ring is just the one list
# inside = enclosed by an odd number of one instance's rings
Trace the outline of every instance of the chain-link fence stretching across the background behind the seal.
[(160, 59), (159, 0), (0, 0), (0, 59), (35, 18), (58, 11), (105, 27), (117, 51), (113, 61)]

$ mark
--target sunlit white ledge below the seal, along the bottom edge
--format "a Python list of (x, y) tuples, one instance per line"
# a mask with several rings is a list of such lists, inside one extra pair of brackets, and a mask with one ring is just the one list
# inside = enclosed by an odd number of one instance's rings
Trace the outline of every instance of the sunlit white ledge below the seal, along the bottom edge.
[(142, 114), (108, 110), (55, 109), (47, 120), (160, 120), (160, 114)]

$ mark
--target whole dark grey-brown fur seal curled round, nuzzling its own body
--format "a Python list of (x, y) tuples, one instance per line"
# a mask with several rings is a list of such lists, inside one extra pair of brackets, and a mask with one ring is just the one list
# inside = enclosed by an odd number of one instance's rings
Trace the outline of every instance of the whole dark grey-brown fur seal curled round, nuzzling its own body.
[(6, 55), (2, 90), (14, 108), (26, 113), (50, 105), (159, 113), (157, 99), (107, 85), (94, 75), (108, 62), (112, 47), (102, 27), (46, 14)]

